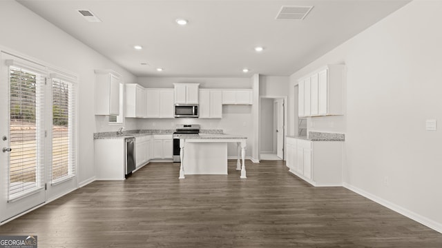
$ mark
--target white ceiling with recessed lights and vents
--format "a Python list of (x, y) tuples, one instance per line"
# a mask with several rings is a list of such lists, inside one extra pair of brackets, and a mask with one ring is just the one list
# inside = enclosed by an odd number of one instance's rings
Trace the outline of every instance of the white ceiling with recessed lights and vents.
[[(136, 76), (222, 77), (293, 74), (409, 2), (17, 1)], [(281, 6), (314, 8), (303, 21), (276, 20)], [(90, 10), (102, 23), (87, 22), (77, 10)], [(179, 26), (177, 18), (189, 24)], [(257, 45), (265, 50), (255, 52)]]

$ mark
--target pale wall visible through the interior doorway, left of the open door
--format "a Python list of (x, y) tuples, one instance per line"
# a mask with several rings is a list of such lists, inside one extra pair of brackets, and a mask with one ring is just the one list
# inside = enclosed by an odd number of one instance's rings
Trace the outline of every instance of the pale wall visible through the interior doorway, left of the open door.
[(273, 153), (273, 99), (261, 99), (260, 152)]

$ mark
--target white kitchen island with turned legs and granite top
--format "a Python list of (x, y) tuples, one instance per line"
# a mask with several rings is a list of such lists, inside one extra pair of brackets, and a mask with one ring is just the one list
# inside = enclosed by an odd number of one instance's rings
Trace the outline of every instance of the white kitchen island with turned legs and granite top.
[(181, 158), (180, 179), (191, 174), (227, 175), (227, 143), (237, 144), (236, 170), (241, 171), (240, 178), (247, 178), (244, 165), (246, 137), (229, 134), (181, 134), (178, 137)]

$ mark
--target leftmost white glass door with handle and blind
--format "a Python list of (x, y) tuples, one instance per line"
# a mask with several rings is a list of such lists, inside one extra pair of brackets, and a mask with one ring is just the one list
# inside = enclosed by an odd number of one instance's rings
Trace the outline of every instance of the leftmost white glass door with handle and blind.
[(0, 221), (3, 221), (44, 203), (48, 158), (45, 156), (46, 72), (41, 65), (5, 53), (1, 53), (0, 60)]

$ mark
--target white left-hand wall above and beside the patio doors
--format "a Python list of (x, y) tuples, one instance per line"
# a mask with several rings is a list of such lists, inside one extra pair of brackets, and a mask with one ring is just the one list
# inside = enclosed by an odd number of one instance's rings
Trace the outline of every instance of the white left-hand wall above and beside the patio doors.
[(8, 52), (18, 52), (79, 76), (78, 182), (90, 180), (95, 176), (93, 133), (97, 131), (94, 70), (115, 70), (125, 81), (135, 81), (135, 77), (16, 1), (0, 1), (0, 23), (0, 46)]

